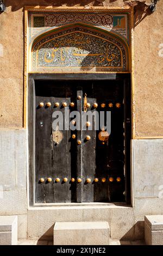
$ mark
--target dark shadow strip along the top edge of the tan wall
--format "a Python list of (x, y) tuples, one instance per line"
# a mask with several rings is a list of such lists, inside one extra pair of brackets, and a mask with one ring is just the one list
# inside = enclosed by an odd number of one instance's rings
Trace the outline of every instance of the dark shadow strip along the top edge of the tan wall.
[[(21, 3), (20, 3), (21, 2)], [(17, 11), (22, 9), (24, 5), (42, 5), (42, 6), (84, 6), (84, 5), (91, 5), (91, 6), (104, 6), (103, 2), (106, 2), (108, 6), (116, 6), (117, 0), (60, 0), (60, 1), (49, 1), (49, 0), (4, 0), (6, 7), (11, 6), (11, 11)], [(139, 1), (132, 1), (128, 2), (128, 0), (123, 0), (124, 6), (134, 6), (134, 27), (136, 27), (143, 19), (145, 19), (148, 15), (151, 15), (151, 11), (149, 10), (149, 6), (146, 4), (146, 1), (139, 2)], [(106, 6), (106, 5), (105, 5)]]

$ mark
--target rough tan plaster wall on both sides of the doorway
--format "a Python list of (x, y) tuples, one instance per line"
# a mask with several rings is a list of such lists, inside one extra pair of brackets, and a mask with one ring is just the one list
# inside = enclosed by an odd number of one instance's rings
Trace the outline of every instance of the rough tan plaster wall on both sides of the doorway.
[[(136, 137), (163, 136), (163, 3), (150, 14), (151, 1), (5, 0), (0, 14), (0, 128), (23, 126), (24, 5), (123, 7), (134, 5), (134, 120)], [(163, 48), (163, 47), (162, 47)]]

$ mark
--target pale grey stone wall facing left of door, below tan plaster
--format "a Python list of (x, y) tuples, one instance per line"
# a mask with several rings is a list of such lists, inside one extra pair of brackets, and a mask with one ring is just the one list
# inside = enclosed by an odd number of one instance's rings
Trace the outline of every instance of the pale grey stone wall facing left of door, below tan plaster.
[(0, 215), (18, 216), (18, 237), (27, 236), (26, 130), (0, 130)]

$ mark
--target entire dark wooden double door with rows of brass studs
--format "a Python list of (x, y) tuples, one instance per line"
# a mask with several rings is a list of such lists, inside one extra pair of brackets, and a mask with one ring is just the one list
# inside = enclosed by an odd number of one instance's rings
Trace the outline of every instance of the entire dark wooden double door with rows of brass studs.
[[(36, 203), (123, 202), (123, 81), (37, 81), (35, 95)], [(99, 118), (103, 112), (105, 125), (110, 111), (109, 137), (103, 127), (95, 130), (94, 115), (79, 129), (83, 120), (77, 123), (74, 113), (82, 117), (84, 111), (98, 112)], [(63, 127), (54, 129), (59, 116)], [(76, 129), (67, 129), (67, 123)]]

